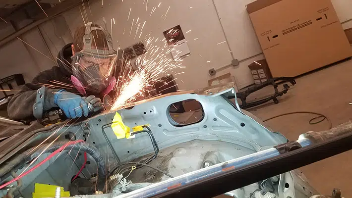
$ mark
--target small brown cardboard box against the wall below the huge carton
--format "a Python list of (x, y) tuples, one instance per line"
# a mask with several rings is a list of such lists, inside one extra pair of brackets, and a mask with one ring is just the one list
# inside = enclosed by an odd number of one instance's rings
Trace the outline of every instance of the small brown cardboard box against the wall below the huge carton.
[(263, 83), (271, 78), (270, 69), (265, 59), (254, 61), (248, 65), (248, 68), (252, 73), (255, 84)]

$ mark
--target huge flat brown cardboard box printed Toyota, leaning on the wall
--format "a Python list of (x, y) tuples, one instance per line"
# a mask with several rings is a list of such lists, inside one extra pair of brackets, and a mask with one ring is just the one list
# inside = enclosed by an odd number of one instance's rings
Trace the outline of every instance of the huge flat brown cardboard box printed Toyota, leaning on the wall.
[(273, 77), (294, 77), (352, 56), (330, 0), (257, 0), (247, 11)]

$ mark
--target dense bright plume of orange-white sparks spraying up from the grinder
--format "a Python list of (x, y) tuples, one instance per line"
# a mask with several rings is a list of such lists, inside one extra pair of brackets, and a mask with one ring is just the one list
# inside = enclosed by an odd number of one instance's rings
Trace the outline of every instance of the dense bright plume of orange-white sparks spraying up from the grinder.
[[(158, 40), (159, 38), (155, 37), (149, 37), (146, 40), (146, 49), (148, 50), (146, 53), (137, 57), (137, 70), (131, 73), (128, 71), (129, 64), (125, 64), (126, 66), (123, 68), (122, 72), (124, 75), (121, 75), (117, 80), (121, 82), (122, 85), (117, 86), (117, 90), (119, 91), (117, 91), (114, 97), (115, 100), (111, 110), (114, 111), (123, 108), (123, 106), (127, 105), (129, 102), (135, 101), (136, 97), (142, 96), (143, 93), (150, 92), (150, 90), (153, 89), (153, 84), (160, 81), (160, 76), (165, 76), (172, 72), (173, 69), (182, 67), (181, 58), (174, 60), (167, 56), (170, 53), (170, 50), (165, 50), (168, 49), (167, 46), (158, 47), (152, 44), (152, 42)], [(182, 73), (184, 72), (176, 73), (175, 75)], [(170, 88), (171, 87), (166, 89)]]

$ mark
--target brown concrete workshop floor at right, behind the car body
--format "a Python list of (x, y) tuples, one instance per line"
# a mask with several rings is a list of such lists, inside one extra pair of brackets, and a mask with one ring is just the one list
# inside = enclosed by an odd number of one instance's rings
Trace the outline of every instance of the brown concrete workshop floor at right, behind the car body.
[[(313, 111), (329, 117), (333, 127), (352, 120), (352, 105), (349, 105), (352, 102), (352, 60), (302, 76), (296, 82), (288, 94), (279, 98), (278, 104), (269, 102), (247, 110), (262, 120), (287, 112)], [(329, 128), (326, 120), (310, 125), (308, 122), (313, 117), (315, 115), (293, 114), (269, 120), (266, 124), (288, 139), (297, 140), (304, 132)], [(333, 188), (340, 188), (343, 197), (352, 197), (352, 150), (300, 170), (320, 193), (331, 195)]]

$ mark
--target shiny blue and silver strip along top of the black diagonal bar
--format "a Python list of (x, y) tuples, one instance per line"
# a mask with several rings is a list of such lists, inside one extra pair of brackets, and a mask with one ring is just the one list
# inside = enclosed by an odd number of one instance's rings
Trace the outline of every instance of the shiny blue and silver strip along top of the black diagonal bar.
[[(312, 144), (311, 141), (305, 138), (296, 142), (299, 143), (302, 148)], [(278, 155), (280, 155), (280, 152), (276, 148), (269, 148), (243, 157), (232, 159), (227, 162), (219, 163), (207, 168), (180, 175), (175, 178), (165, 180), (157, 184), (153, 184), (146, 188), (139, 189), (131, 193), (124, 194), (122, 196), (118, 196), (118, 198), (149, 198), (152, 196), (156, 196), (159, 193), (163, 193), (189, 183), (199, 182), (202, 179), (212, 177), (217, 174), (233, 170), (235, 168), (241, 168), (247, 165), (251, 165)]]

